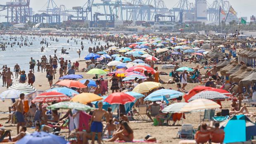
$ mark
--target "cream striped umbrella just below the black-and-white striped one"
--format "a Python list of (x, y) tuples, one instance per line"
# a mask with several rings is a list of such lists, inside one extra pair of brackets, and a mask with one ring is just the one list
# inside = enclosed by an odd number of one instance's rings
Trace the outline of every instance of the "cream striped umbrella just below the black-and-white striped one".
[(180, 112), (190, 112), (196, 110), (205, 110), (205, 109), (218, 109), (221, 106), (216, 102), (213, 102), (209, 99), (195, 99), (192, 102), (187, 103)]

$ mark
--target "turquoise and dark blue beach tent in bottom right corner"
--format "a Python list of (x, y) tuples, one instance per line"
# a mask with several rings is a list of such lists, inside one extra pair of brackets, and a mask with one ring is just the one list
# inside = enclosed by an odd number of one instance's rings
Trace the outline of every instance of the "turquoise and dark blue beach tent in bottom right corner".
[(224, 143), (245, 142), (256, 136), (256, 125), (247, 116), (235, 115), (220, 123), (225, 132)]

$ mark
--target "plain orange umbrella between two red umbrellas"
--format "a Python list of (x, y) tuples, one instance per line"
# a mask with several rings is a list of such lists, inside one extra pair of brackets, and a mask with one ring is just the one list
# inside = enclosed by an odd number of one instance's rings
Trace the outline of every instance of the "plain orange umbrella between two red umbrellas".
[(77, 94), (70, 101), (79, 102), (81, 104), (88, 104), (88, 103), (91, 103), (94, 101), (100, 101), (100, 100), (102, 100), (102, 97), (98, 96), (97, 94), (83, 92), (81, 94)]

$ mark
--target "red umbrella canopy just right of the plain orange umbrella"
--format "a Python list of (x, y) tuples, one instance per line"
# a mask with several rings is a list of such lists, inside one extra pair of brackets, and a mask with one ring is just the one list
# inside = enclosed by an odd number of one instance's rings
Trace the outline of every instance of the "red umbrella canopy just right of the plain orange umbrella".
[(109, 104), (127, 104), (133, 101), (135, 101), (135, 97), (123, 92), (112, 93), (104, 100), (104, 102), (108, 102)]

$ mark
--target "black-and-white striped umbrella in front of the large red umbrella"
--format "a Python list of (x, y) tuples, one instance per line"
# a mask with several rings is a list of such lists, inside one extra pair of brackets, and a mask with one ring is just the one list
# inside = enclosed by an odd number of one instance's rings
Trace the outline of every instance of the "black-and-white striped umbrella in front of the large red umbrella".
[(195, 99), (211, 99), (212, 101), (224, 101), (225, 99), (228, 99), (229, 97), (225, 96), (224, 94), (220, 92), (214, 92), (214, 91), (202, 91), (197, 94), (195, 94), (193, 97), (191, 97), (188, 102), (191, 102)]

